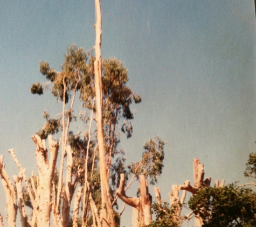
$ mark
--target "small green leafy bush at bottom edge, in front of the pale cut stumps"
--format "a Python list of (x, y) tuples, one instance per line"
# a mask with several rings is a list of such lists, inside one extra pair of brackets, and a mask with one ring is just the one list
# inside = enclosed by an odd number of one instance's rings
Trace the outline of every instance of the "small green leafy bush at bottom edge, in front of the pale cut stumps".
[(173, 208), (169, 208), (167, 202), (163, 202), (161, 205), (155, 202), (151, 205), (151, 209), (153, 209), (152, 214), (155, 214), (156, 219), (149, 225), (146, 225), (147, 227), (179, 226), (179, 223), (174, 218), (175, 211)]

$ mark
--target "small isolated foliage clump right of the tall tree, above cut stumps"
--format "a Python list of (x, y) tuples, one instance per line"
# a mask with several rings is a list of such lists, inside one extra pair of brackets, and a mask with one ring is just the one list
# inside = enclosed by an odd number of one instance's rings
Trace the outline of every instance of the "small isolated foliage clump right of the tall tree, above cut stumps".
[(158, 136), (144, 143), (142, 159), (128, 166), (130, 172), (136, 174), (137, 178), (140, 174), (149, 176), (152, 185), (157, 183), (157, 176), (162, 173), (165, 143)]

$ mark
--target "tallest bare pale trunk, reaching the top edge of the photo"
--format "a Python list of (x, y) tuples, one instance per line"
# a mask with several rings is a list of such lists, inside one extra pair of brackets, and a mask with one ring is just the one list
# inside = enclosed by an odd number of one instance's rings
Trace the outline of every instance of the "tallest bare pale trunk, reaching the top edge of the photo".
[[(97, 119), (97, 138), (99, 143), (99, 162), (100, 162), (100, 182), (101, 182), (101, 200), (102, 200), (102, 226), (109, 225), (114, 227), (114, 212), (110, 201), (107, 165), (106, 165), (106, 148), (102, 124), (102, 82), (101, 82), (101, 9), (100, 0), (95, 0), (96, 12), (96, 38), (95, 38), (95, 94), (96, 94), (96, 119)], [(107, 215), (108, 214), (108, 215)]]

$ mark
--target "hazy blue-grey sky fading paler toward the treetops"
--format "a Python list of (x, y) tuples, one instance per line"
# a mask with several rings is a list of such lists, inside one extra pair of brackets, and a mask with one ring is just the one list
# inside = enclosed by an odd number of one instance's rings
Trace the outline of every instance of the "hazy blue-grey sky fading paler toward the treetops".
[[(133, 136), (120, 144), (127, 164), (158, 135), (168, 141), (157, 184), (165, 201), (171, 185), (192, 182), (194, 158), (212, 186), (216, 179), (251, 181), (244, 171), (256, 151), (254, 1), (109, 0), (101, 10), (102, 58), (122, 60), (128, 86), (142, 97), (132, 105)], [(10, 148), (27, 176), (36, 171), (31, 136), (43, 111), (59, 108), (50, 93), (30, 94), (32, 83), (44, 81), (39, 61), (59, 70), (71, 44), (92, 49), (94, 12), (94, 1), (1, 1), (0, 153), (9, 176), (18, 174)], [(5, 216), (2, 186), (0, 195)], [(121, 226), (131, 226), (129, 212)]]

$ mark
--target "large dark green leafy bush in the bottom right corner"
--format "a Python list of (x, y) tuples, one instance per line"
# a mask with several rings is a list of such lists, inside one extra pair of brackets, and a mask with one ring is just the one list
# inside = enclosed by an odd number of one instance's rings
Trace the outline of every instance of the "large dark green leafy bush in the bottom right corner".
[(189, 207), (204, 227), (256, 226), (256, 193), (248, 188), (205, 187), (190, 198)]

